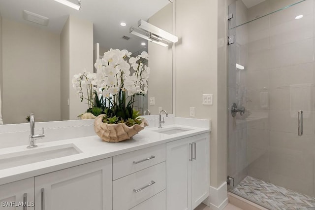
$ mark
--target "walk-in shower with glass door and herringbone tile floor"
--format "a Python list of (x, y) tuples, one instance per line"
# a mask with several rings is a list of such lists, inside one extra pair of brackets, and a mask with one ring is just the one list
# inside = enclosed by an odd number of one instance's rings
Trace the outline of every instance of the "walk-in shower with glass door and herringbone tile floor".
[(252, 2), (228, 12), (229, 191), (315, 209), (315, 0)]

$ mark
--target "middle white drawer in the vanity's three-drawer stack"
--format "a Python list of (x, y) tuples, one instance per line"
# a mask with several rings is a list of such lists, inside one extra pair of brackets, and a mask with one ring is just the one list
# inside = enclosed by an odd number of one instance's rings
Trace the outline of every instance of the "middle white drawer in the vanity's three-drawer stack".
[(162, 162), (113, 181), (113, 210), (129, 210), (164, 190), (165, 168), (165, 162)]

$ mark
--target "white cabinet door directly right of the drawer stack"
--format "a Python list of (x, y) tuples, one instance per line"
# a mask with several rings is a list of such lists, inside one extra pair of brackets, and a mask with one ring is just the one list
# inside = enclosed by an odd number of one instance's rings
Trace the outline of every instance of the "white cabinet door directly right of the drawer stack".
[(166, 209), (190, 210), (190, 161), (189, 139), (166, 144)]

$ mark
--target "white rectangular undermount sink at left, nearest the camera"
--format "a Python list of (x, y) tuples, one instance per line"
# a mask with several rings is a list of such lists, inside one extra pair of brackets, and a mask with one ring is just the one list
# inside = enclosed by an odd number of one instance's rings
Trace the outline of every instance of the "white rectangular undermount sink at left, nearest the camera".
[(0, 155), (0, 170), (82, 153), (74, 144), (34, 148)]

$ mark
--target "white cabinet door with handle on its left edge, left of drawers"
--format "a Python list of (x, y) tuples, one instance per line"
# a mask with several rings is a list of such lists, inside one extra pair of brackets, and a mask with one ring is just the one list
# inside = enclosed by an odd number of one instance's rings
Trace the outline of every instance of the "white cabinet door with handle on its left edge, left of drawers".
[(35, 177), (35, 210), (112, 210), (112, 158)]

